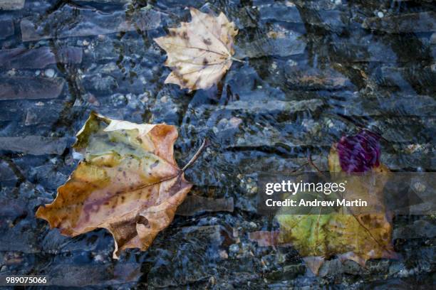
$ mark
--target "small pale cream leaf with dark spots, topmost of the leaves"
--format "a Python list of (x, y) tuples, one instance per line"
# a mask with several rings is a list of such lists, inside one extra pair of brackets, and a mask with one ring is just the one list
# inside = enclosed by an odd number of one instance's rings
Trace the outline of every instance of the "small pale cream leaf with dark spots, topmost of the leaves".
[(190, 9), (191, 22), (170, 28), (168, 36), (155, 38), (167, 51), (165, 65), (172, 68), (165, 83), (191, 90), (208, 89), (221, 80), (232, 65), (233, 38), (238, 31), (233, 22)]

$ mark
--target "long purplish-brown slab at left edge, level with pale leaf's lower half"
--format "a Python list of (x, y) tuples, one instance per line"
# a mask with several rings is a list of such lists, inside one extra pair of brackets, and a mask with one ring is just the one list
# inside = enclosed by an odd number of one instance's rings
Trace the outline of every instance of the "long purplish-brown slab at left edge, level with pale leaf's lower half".
[(54, 63), (81, 62), (81, 48), (60, 48), (54, 52), (47, 47), (0, 50), (0, 68), (45, 68)]

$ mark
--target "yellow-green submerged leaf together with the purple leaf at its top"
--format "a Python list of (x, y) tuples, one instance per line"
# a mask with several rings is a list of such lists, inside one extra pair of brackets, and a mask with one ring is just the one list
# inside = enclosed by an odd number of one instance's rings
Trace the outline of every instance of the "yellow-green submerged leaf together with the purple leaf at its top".
[[(338, 144), (333, 144), (328, 156), (329, 171), (349, 173), (364, 168), (364, 175), (346, 175), (346, 198), (370, 198), (368, 204), (374, 205), (373, 208), (366, 208), (364, 213), (346, 208), (345, 213), (326, 215), (293, 215), (286, 208), (286, 214), (279, 210), (276, 215), (280, 225), (278, 232), (251, 233), (251, 240), (256, 240), (259, 245), (292, 245), (315, 274), (324, 260), (333, 256), (341, 260), (351, 259), (362, 267), (368, 259), (396, 257), (392, 245), (392, 221), (383, 204), (383, 187), (390, 171), (378, 160), (380, 145), (375, 137), (368, 137), (368, 133), (358, 135), (343, 137)], [(349, 151), (338, 152), (338, 147)], [(375, 175), (376, 182), (370, 183)], [(344, 178), (343, 174), (338, 176)], [(337, 183), (343, 181), (335, 180)]]

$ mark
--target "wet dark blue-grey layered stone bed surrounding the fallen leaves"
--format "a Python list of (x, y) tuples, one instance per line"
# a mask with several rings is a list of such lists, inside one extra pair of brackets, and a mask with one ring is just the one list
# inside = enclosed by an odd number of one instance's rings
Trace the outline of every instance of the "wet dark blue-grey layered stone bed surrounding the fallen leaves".
[[(170, 69), (152, 41), (189, 20), (185, 6), (239, 28), (245, 63), (207, 91), (164, 85)], [(394, 217), (399, 259), (363, 268), (333, 257), (319, 276), (296, 249), (248, 233), (277, 227), (256, 213), (259, 171), (313, 171), (308, 154), (326, 170), (331, 144), (361, 127), (383, 137), (391, 170), (435, 171), (435, 11), (413, 0), (0, 1), (0, 274), (95, 289), (430, 289), (434, 217)], [(71, 143), (91, 110), (175, 124), (182, 165), (211, 141), (187, 171), (201, 198), (120, 260), (105, 230), (63, 237), (34, 218), (77, 166)]]

